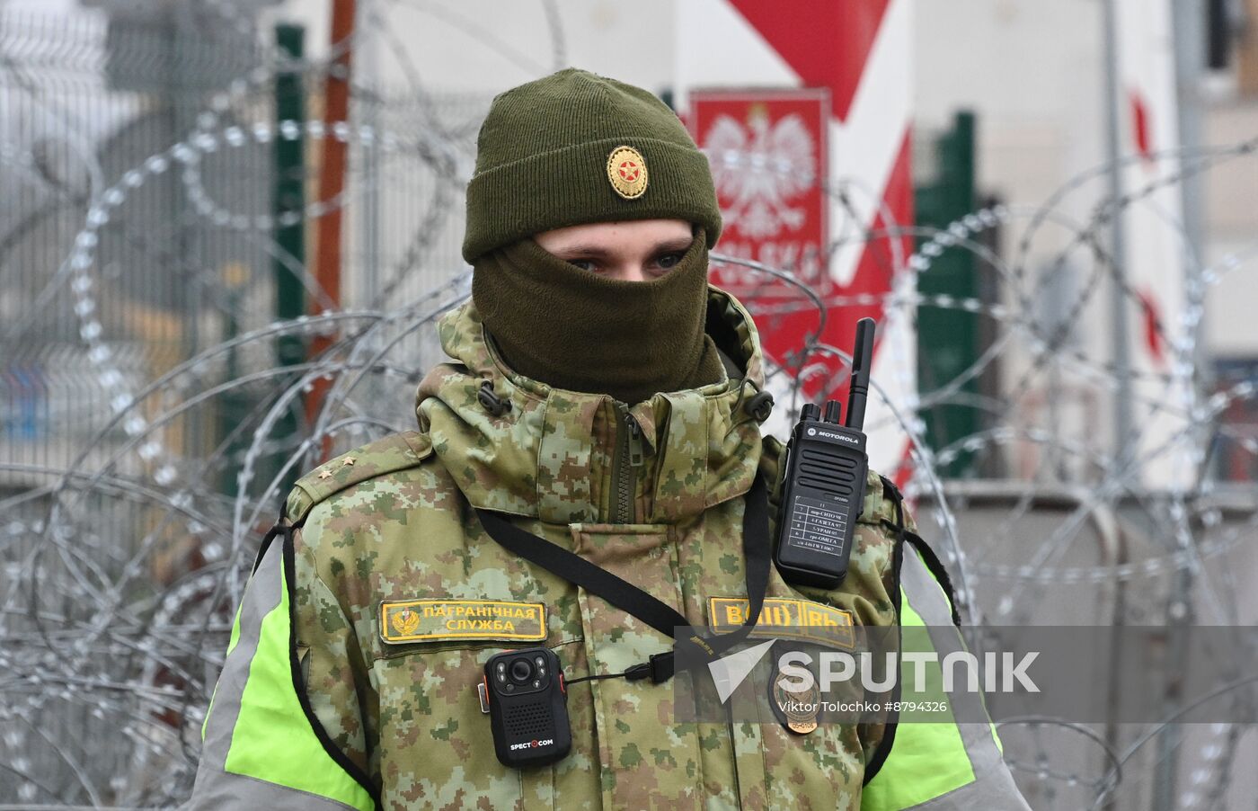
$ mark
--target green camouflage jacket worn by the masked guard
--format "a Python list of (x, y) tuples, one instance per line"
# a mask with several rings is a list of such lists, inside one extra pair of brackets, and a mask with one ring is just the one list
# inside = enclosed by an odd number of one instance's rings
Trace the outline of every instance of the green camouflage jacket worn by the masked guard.
[[(481, 710), (476, 685), (502, 650), (545, 645), (572, 681), (623, 672), (672, 640), (507, 553), (473, 508), (512, 516), (694, 626), (720, 622), (718, 604), (745, 611), (742, 496), (757, 471), (776, 480), (782, 445), (747, 411), (764, 384), (751, 317), (717, 288), (710, 311), (720, 317), (708, 334), (737, 374), (633, 406), (521, 377), (470, 302), (448, 312), (439, 332), (452, 360), (420, 383), (418, 429), (303, 477), (287, 501), (283, 555), (259, 553), (192, 807), (297, 807), (267, 793), (276, 786), (304, 792), (311, 808), (860, 807), (881, 725), (799, 735), (776, 723), (687, 723), (673, 717), (671, 683), (585, 680), (567, 690), (571, 753), (513, 769), (497, 761)], [(493, 407), (486, 383), (508, 408)], [(863, 506), (842, 587), (788, 586), (774, 569), (767, 606), (896, 623), (893, 538), (879, 524), (891, 504), (874, 471)], [(765, 695), (755, 681), (740, 690)], [(282, 732), (288, 715), (298, 732)], [(234, 774), (249, 780), (215, 778)]]

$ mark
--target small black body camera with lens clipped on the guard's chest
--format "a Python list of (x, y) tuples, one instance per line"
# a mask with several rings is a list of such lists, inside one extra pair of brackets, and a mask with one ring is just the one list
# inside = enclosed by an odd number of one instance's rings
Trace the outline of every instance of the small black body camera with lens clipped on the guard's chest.
[(478, 685), (493, 749), (509, 768), (545, 766), (567, 756), (572, 729), (559, 656), (546, 647), (496, 654)]

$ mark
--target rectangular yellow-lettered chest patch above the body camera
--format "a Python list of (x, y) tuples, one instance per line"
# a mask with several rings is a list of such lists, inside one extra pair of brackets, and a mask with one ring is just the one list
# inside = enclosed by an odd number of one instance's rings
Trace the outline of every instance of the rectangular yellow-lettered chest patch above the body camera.
[(546, 606), (501, 599), (386, 599), (380, 638), (390, 644), (433, 640), (546, 638)]

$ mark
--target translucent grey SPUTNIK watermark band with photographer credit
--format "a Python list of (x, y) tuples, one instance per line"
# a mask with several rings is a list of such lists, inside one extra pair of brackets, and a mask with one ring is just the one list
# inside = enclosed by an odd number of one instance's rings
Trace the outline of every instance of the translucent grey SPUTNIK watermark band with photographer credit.
[(766, 621), (717, 662), (678, 649), (677, 713), (776, 719), (793, 732), (888, 713), (897, 723), (1258, 723), (1258, 626), (1195, 626), (1183, 650), (1162, 626), (834, 631)]

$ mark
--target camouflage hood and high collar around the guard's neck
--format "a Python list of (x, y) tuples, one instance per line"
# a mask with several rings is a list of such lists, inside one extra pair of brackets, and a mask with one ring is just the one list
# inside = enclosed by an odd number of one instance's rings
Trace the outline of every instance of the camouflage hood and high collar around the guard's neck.
[[(476, 508), (559, 524), (610, 521), (626, 413), (642, 431), (630, 523), (681, 523), (751, 487), (761, 434), (747, 403), (764, 388), (764, 356), (751, 316), (723, 290), (708, 286), (707, 334), (738, 377), (640, 403), (552, 388), (508, 368), (470, 300), (440, 317), (438, 334), (452, 361), (420, 382), (415, 413)], [(511, 404), (501, 416), (481, 402), (486, 382)]]

